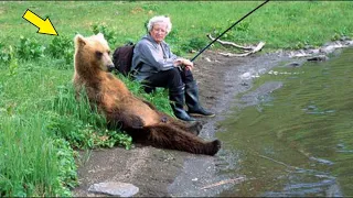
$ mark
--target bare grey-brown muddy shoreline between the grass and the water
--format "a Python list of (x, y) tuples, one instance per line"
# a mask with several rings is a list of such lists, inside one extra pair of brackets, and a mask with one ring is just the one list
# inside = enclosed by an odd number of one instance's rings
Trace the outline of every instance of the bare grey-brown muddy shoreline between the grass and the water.
[[(302, 63), (304, 56), (293, 59), (293, 52), (278, 51), (247, 57), (225, 57), (217, 52), (205, 52), (195, 62), (194, 76), (204, 107), (216, 112), (215, 118), (203, 119), (200, 136), (213, 140), (222, 131), (217, 122), (226, 118), (234, 97), (252, 88), (255, 77), (280, 63)], [(268, 89), (270, 91), (271, 89)], [(106, 197), (93, 194), (90, 185), (105, 182), (129, 183), (139, 188), (133, 197), (214, 197), (246, 179), (242, 175), (222, 175), (222, 169), (234, 168), (231, 151), (221, 150), (217, 155), (193, 155), (184, 152), (137, 146), (81, 152), (77, 160), (79, 186), (75, 197)], [(215, 185), (220, 182), (224, 185)]]

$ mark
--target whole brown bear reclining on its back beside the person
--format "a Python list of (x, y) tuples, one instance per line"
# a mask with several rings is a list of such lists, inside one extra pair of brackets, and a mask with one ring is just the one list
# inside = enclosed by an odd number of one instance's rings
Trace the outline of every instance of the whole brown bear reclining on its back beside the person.
[(110, 50), (101, 33), (75, 36), (76, 96), (85, 89), (88, 100), (98, 108), (109, 127), (129, 133), (133, 142), (194, 154), (214, 155), (221, 148), (218, 140), (206, 142), (197, 136), (202, 124), (186, 123), (156, 109), (150, 102), (133, 96), (126, 85), (108, 69), (114, 67)]

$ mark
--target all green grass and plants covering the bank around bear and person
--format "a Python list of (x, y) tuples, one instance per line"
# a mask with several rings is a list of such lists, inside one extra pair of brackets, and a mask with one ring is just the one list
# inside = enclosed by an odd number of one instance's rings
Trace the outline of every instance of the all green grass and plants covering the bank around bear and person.
[[(73, 37), (103, 32), (111, 50), (137, 42), (152, 15), (170, 15), (168, 42), (179, 55), (204, 47), (259, 2), (19, 1), (0, 2), (0, 196), (71, 196), (77, 184), (73, 148), (124, 146), (131, 139), (109, 131), (85, 97), (75, 100)], [(351, 2), (269, 2), (223, 40), (265, 41), (265, 51), (321, 45), (352, 36)], [(58, 36), (36, 34), (21, 16), (30, 9), (49, 16)], [(19, 31), (20, 30), (20, 31)], [(215, 44), (214, 48), (222, 46)], [(153, 95), (122, 78), (137, 95), (171, 113), (165, 91)]]

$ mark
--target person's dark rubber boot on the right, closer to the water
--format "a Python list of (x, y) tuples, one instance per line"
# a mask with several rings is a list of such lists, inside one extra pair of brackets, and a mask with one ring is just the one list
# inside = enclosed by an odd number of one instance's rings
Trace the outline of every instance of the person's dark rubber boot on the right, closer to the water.
[(188, 113), (195, 117), (214, 117), (215, 113), (203, 109), (199, 101), (199, 88), (196, 81), (185, 84), (185, 103)]

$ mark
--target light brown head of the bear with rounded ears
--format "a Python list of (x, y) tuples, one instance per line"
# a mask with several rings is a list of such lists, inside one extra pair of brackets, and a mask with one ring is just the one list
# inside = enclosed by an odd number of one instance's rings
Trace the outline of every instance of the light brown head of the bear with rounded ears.
[(99, 69), (104, 72), (114, 68), (108, 42), (101, 33), (89, 37), (81, 34), (75, 36), (75, 67), (76, 70)]

